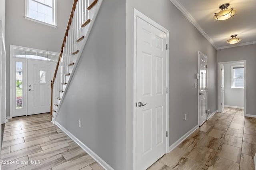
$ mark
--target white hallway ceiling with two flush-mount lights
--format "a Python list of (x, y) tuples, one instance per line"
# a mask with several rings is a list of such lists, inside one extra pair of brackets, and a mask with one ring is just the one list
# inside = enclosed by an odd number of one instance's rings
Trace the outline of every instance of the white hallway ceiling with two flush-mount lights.
[[(256, 0), (171, 0), (216, 49), (256, 43)], [(228, 8), (236, 14), (224, 21), (213, 19), (220, 12), (219, 6), (230, 3)], [(242, 41), (228, 44), (231, 35), (238, 34)]]

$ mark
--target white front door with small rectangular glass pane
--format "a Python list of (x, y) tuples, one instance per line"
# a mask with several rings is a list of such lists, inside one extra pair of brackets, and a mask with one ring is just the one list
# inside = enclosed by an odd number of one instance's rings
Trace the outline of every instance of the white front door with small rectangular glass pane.
[(27, 115), (48, 113), (51, 104), (51, 80), (56, 63), (28, 59), (27, 67)]

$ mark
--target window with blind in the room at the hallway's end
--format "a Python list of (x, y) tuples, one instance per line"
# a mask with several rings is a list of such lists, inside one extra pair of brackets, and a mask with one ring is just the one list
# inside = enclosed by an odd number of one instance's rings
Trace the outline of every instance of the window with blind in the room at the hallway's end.
[(232, 66), (232, 87), (237, 89), (244, 88), (244, 66)]

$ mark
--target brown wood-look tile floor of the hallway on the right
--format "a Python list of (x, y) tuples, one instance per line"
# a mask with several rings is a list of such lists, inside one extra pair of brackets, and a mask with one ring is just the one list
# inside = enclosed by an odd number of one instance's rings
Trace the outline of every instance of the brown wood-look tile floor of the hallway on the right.
[(256, 118), (225, 108), (148, 170), (254, 170)]

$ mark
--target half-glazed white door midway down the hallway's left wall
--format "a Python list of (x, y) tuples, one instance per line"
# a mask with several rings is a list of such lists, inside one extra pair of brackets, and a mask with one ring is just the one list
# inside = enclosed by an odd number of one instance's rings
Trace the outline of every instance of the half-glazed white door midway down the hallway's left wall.
[(207, 118), (207, 56), (199, 52), (199, 126)]

